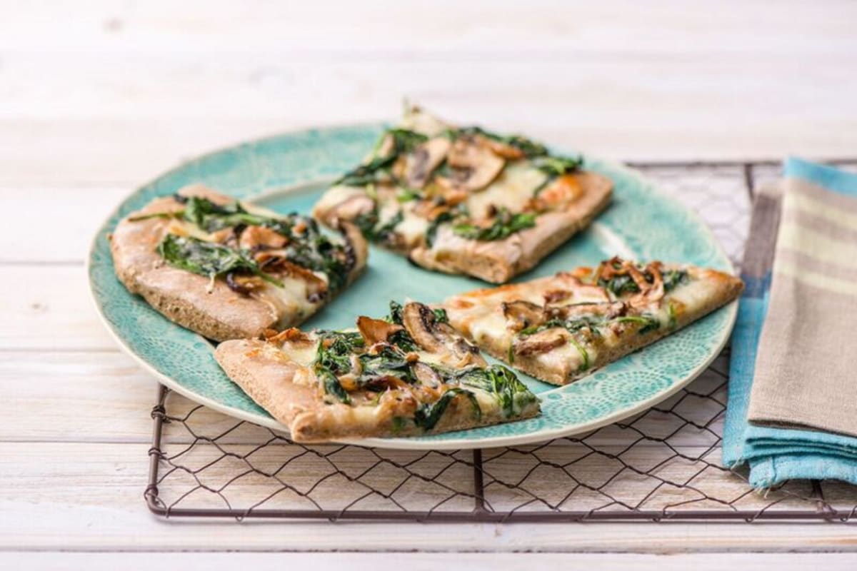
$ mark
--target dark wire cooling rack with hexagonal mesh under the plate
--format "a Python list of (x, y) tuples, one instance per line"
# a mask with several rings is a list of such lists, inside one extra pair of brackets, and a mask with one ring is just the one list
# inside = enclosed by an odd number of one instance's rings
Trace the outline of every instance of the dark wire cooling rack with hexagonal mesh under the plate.
[[(835, 161), (857, 167), (857, 159)], [(697, 210), (737, 265), (773, 162), (633, 164)], [(753, 491), (721, 466), (728, 348), (658, 406), (534, 446), (407, 451), (303, 445), (159, 388), (149, 508), (165, 517), (417, 521), (857, 521), (857, 487)]]

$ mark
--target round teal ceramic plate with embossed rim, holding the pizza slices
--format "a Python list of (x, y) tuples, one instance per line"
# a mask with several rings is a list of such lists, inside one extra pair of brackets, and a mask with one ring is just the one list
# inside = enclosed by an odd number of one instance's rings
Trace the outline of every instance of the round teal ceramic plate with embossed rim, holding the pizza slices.
[[(309, 212), (325, 182), (357, 163), (372, 148), (381, 128), (326, 128), (235, 146), (183, 164), (132, 194), (99, 229), (89, 257), (95, 304), (117, 341), (172, 390), (239, 419), (285, 431), (219, 369), (209, 342), (172, 324), (117, 281), (107, 235), (120, 217), (191, 182), (203, 182), (276, 211)], [(616, 253), (732, 271), (726, 254), (692, 211), (620, 165), (587, 158), (587, 168), (613, 179), (613, 205), (590, 229), (519, 279), (594, 265)], [(485, 285), (425, 271), (372, 248), (363, 277), (305, 327), (349, 327), (358, 315), (386, 314), (391, 299), (440, 301)], [(724, 307), (566, 387), (522, 375), (542, 400), (542, 415), (536, 419), (432, 437), (372, 438), (359, 443), (406, 449), (488, 448), (534, 443), (607, 425), (662, 401), (704, 371), (725, 344), (736, 307)]]

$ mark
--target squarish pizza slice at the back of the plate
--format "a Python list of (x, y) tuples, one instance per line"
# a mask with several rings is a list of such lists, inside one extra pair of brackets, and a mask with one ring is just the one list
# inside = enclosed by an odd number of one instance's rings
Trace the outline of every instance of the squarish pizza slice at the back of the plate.
[(424, 268), (504, 283), (584, 229), (613, 183), (518, 135), (458, 128), (416, 107), (315, 205)]

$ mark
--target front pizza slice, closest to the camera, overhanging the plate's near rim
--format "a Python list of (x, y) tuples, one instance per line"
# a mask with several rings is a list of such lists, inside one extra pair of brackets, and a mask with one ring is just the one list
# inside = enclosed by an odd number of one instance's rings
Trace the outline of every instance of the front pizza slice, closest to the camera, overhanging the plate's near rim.
[(413, 436), (525, 419), (536, 396), (446, 322), (442, 310), (391, 304), (387, 318), (357, 330), (271, 332), (214, 353), (296, 442)]

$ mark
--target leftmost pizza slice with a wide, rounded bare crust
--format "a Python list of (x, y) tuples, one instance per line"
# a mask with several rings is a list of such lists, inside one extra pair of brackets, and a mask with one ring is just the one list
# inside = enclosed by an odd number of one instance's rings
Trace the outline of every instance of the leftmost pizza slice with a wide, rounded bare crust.
[(243, 204), (201, 185), (154, 199), (110, 236), (119, 280), (177, 324), (215, 341), (301, 323), (354, 280), (367, 244), (309, 217)]

